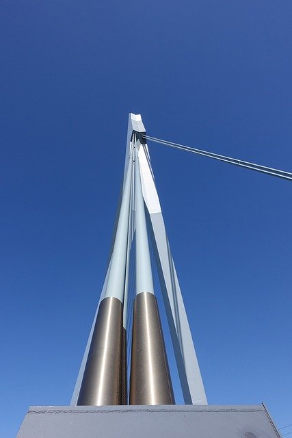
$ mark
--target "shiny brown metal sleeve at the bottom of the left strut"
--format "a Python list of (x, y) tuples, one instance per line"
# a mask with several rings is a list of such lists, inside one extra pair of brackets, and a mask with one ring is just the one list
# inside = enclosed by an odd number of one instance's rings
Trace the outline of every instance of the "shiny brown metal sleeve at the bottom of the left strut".
[(77, 405), (122, 404), (122, 302), (104, 298), (98, 309)]

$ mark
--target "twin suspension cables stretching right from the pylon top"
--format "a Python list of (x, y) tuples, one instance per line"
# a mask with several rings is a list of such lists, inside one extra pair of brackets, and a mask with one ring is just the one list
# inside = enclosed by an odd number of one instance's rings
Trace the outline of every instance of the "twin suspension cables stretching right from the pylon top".
[(220, 154), (209, 152), (209, 151), (202, 151), (202, 149), (191, 148), (190, 146), (185, 146), (183, 144), (168, 142), (167, 140), (161, 140), (160, 138), (146, 136), (144, 134), (143, 134), (143, 138), (146, 138), (147, 140), (150, 140), (151, 142), (163, 144), (164, 146), (170, 146), (170, 147), (175, 148), (175, 149), (181, 149), (183, 151), (196, 153), (198, 155), (204, 155), (205, 157), (218, 159), (222, 162), (226, 162), (229, 164), (235, 164), (236, 166), (245, 167), (245, 168), (248, 168), (251, 170), (256, 170), (257, 172), (267, 173), (268, 175), (272, 175), (273, 177), (284, 178), (284, 179), (288, 179), (289, 181), (292, 181), (292, 173), (291, 172), (286, 172), (284, 170), (279, 170), (279, 169), (274, 169), (274, 168), (270, 168), (267, 166), (262, 166), (261, 164), (245, 162), (241, 159), (226, 157), (225, 155), (220, 155)]

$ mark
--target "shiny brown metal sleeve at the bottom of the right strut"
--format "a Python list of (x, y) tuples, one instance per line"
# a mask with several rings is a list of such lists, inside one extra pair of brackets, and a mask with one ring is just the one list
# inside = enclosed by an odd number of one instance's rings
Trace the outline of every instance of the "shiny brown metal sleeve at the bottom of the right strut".
[(129, 404), (174, 404), (157, 307), (150, 292), (135, 297)]

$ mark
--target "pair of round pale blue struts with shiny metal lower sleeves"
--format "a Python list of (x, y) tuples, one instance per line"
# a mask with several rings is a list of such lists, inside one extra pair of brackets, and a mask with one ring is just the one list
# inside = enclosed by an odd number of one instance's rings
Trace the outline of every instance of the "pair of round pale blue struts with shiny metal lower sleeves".
[[(109, 265), (105, 298), (98, 308), (78, 405), (127, 404), (126, 333), (129, 220), (135, 168), (136, 297), (129, 404), (173, 404), (174, 396), (165, 352), (150, 254), (135, 134), (124, 182), (120, 214)], [(124, 313), (127, 313), (124, 311)]]

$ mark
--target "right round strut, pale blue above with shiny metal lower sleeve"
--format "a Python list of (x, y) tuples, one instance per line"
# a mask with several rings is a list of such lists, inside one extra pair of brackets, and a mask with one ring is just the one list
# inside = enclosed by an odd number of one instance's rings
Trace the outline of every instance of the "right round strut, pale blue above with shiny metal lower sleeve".
[(133, 309), (129, 404), (174, 404), (168, 358), (154, 294), (136, 135), (136, 296)]

